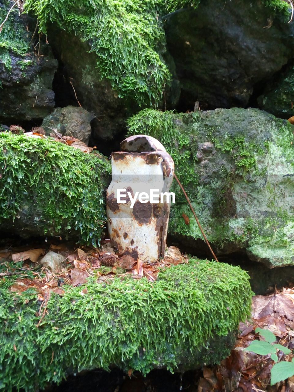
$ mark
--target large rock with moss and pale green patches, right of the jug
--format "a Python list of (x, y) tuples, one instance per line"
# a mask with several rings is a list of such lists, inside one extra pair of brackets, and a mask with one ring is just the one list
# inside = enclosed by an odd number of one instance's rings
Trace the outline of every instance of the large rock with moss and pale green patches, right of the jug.
[[(294, 264), (293, 131), (289, 122), (258, 109), (146, 109), (129, 120), (130, 134), (154, 136), (172, 155), (218, 252), (246, 250), (271, 267)], [(201, 232), (176, 183), (173, 190), (169, 232), (199, 252)]]

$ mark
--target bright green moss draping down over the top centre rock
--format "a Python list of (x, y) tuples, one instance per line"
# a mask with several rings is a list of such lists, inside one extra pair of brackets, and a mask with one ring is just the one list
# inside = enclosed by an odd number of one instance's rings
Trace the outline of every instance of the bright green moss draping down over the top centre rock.
[[(197, 4), (197, 1), (195, 2)], [(139, 104), (157, 104), (171, 74), (162, 54), (165, 34), (160, 15), (189, 1), (164, 0), (26, 0), (46, 32), (56, 22), (91, 44), (97, 67), (110, 80), (119, 97), (132, 96)]]

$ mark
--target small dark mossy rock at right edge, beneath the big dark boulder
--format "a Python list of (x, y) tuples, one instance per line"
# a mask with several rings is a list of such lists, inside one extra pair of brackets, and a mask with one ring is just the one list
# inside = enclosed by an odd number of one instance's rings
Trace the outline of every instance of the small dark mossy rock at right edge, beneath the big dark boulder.
[(258, 98), (263, 110), (277, 117), (289, 118), (294, 116), (294, 67), (280, 74), (276, 80), (267, 83), (265, 92)]

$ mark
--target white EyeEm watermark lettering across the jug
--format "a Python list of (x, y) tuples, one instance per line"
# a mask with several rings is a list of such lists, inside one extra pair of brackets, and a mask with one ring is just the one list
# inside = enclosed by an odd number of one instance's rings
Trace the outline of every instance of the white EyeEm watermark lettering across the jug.
[(150, 189), (149, 194), (147, 192), (135, 192), (134, 197), (132, 196), (132, 192), (127, 192), (126, 189), (118, 189), (117, 190), (117, 202), (118, 203), (127, 203), (125, 200), (129, 197), (131, 201), (130, 208), (134, 207), (134, 204), (137, 200), (140, 203), (175, 203), (176, 202), (176, 195), (174, 192), (159, 192), (159, 189)]

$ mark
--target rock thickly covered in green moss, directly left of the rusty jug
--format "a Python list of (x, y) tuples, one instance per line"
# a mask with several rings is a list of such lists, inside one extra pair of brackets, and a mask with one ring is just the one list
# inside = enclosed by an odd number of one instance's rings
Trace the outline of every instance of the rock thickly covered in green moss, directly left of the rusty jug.
[(0, 132), (0, 230), (99, 242), (109, 170), (100, 155)]

